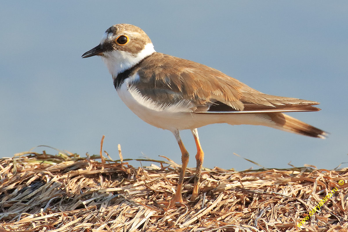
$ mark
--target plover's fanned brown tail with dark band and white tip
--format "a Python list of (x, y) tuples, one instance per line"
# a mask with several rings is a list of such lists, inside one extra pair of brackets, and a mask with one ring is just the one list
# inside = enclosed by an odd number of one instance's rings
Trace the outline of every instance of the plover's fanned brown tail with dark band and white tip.
[(267, 113), (267, 115), (275, 122), (274, 126), (268, 125), (270, 127), (315, 138), (327, 137), (327, 132), (290, 117), (289, 115), (283, 113)]

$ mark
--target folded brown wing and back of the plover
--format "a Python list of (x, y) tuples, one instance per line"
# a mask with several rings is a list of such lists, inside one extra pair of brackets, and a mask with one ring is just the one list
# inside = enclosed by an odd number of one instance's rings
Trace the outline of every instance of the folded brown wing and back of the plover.
[(161, 105), (190, 101), (195, 113), (320, 110), (311, 106), (317, 102), (263, 94), (216, 69), (166, 54), (152, 54), (134, 71), (143, 96)]

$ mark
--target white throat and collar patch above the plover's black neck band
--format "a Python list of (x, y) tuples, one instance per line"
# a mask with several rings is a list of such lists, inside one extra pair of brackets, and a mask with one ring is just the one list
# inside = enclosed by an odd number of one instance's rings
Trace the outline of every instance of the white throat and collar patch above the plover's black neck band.
[(112, 78), (116, 78), (119, 73), (133, 67), (154, 52), (156, 51), (153, 49), (152, 43), (148, 43), (136, 56), (127, 51), (114, 50), (104, 53), (102, 60), (108, 67)]

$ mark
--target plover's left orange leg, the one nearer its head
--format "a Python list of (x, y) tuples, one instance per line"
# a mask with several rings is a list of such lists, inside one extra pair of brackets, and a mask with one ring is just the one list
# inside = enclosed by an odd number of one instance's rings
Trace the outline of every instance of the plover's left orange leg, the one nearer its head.
[(187, 152), (184, 144), (181, 141), (180, 135), (179, 135), (179, 130), (173, 131), (173, 134), (175, 135), (176, 141), (179, 144), (180, 150), (181, 150), (181, 161), (182, 161), (182, 168), (180, 171), (180, 176), (179, 176), (179, 183), (176, 187), (176, 192), (174, 197), (169, 203), (169, 207), (171, 208), (175, 205), (176, 202), (183, 202), (182, 200), (182, 195), (181, 195), (181, 189), (182, 189), (182, 184), (184, 182), (184, 176), (185, 176), (185, 171), (187, 168), (187, 163), (189, 162), (189, 153)]

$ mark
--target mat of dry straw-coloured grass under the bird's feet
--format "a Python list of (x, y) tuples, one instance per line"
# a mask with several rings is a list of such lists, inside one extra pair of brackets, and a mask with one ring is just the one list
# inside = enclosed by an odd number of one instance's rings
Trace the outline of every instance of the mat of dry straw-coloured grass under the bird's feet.
[[(167, 210), (179, 165), (152, 160), (134, 168), (97, 158), (28, 152), (0, 159), (0, 232), (347, 231), (347, 169), (205, 169), (198, 202)], [(193, 174), (188, 169), (186, 199)]]

